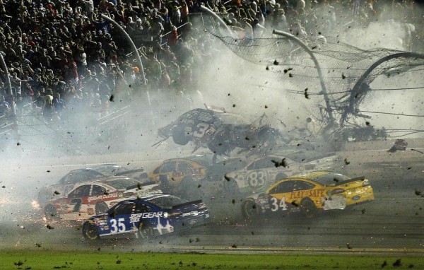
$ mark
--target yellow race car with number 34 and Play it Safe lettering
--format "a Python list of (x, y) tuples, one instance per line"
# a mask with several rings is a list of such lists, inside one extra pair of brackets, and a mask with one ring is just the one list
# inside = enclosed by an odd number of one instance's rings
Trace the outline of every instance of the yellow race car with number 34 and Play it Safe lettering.
[(295, 212), (312, 217), (318, 211), (345, 209), (373, 199), (374, 192), (365, 177), (319, 171), (277, 181), (266, 192), (245, 199), (242, 212), (248, 218), (261, 213)]

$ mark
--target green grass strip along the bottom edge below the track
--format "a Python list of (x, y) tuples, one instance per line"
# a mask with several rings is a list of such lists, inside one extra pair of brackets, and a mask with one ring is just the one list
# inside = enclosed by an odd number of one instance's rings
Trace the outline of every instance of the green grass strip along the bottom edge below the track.
[(0, 269), (424, 269), (423, 257), (3, 251)]

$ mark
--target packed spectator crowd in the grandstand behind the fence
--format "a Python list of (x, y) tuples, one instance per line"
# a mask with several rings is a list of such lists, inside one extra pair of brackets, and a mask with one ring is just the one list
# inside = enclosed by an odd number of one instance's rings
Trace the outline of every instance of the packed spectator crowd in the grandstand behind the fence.
[[(39, 110), (46, 122), (86, 107), (101, 114), (114, 98), (143, 86), (194, 89), (213, 58), (212, 35), (193, 23), (204, 5), (240, 38), (332, 35), (336, 25), (365, 27), (377, 17), (422, 19), (411, 0), (0, 0), (0, 116)], [(139, 47), (141, 66), (112, 18)], [(413, 27), (413, 26), (412, 26)], [(414, 31), (414, 29), (409, 31)], [(10, 80), (12, 93), (9, 93)]]

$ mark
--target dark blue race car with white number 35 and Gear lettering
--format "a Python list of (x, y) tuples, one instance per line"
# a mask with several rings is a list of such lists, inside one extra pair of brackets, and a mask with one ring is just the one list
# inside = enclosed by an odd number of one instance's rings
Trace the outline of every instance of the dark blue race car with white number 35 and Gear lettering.
[(120, 201), (117, 205), (83, 223), (83, 236), (96, 240), (106, 235), (136, 233), (148, 240), (154, 235), (173, 233), (209, 222), (204, 203), (187, 201), (170, 194), (150, 194)]

